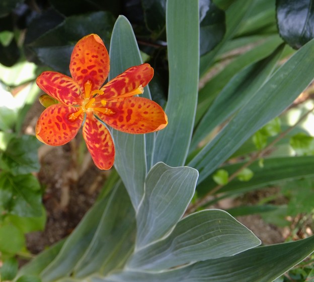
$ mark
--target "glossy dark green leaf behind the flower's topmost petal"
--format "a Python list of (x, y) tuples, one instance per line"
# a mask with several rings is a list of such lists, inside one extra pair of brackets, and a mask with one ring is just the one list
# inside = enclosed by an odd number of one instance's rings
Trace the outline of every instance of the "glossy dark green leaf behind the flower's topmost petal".
[(114, 17), (109, 12), (71, 16), (27, 46), (43, 63), (69, 75), (70, 55), (76, 42), (85, 35), (96, 33), (108, 47), (113, 25)]

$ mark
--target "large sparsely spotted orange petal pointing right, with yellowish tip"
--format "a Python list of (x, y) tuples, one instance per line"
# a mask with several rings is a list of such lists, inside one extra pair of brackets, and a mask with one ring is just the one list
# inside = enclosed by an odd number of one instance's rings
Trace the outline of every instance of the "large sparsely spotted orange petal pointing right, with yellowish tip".
[(97, 111), (97, 116), (122, 132), (149, 133), (161, 130), (168, 124), (163, 108), (146, 98), (132, 97), (120, 102), (108, 102), (106, 108), (108, 114)]

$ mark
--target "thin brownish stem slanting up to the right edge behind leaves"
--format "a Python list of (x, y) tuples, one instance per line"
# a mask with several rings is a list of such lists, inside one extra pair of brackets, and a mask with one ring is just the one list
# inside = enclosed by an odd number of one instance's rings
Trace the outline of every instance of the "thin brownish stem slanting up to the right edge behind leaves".
[[(255, 162), (257, 159), (263, 157), (278, 141), (280, 141), (283, 137), (285, 137), (288, 133), (290, 133), (297, 125), (299, 125), (312, 111), (314, 110), (314, 107), (312, 107), (310, 110), (308, 110), (303, 116), (300, 117), (300, 119), (291, 127), (289, 127), (286, 131), (280, 133), (278, 137), (273, 140), (271, 143), (269, 143), (263, 150), (253, 154), (248, 162), (246, 162), (243, 166), (241, 166), (237, 171), (232, 173), (228, 178), (228, 183), (238, 176), (238, 174), (244, 169), (250, 166), (253, 162)], [(194, 202), (194, 204), (190, 205), (186, 211), (186, 214), (190, 214), (195, 212), (198, 208), (206, 205), (209, 201), (212, 199), (212, 195), (216, 194), (224, 185), (217, 185), (212, 190), (210, 190), (203, 198), (198, 199)]]

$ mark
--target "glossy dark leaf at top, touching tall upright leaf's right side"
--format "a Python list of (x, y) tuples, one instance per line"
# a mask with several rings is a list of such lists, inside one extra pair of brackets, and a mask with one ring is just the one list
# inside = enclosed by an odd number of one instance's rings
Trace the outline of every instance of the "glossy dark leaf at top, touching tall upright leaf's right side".
[(211, 51), (225, 33), (224, 11), (212, 0), (199, 0), (200, 13), (200, 56)]

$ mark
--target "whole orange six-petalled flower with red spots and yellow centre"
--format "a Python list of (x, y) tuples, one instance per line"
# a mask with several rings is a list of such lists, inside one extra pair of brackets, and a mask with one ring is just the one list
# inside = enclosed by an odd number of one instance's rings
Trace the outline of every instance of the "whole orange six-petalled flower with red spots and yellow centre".
[(76, 43), (70, 72), (72, 78), (45, 71), (36, 79), (37, 85), (58, 101), (45, 109), (37, 122), (36, 136), (43, 143), (58, 146), (69, 142), (86, 117), (83, 137), (87, 147), (96, 166), (109, 169), (114, 162), (114, 143), (98, 119), (114, 129), (134, 134), (167, 126), (167, 116), (158, 104), (133, 97), (143, 93), (153, 76), (149, 64), (130, 67), (102, 86), (109, 73), (109, 55), (98, 35), (87, 35)]

